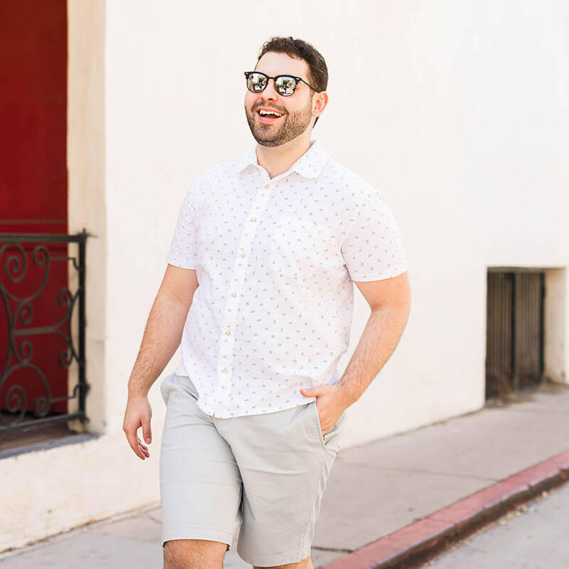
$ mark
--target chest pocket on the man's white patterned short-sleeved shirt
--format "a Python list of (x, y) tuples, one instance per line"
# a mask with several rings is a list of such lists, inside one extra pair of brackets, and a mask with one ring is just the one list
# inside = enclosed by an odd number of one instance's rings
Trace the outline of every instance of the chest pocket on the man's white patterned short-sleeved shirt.
[(272, 235), (270, 268), (289, 277), (314, 270), (326, 255), (329, 236), (326, 225), (282, 216)]

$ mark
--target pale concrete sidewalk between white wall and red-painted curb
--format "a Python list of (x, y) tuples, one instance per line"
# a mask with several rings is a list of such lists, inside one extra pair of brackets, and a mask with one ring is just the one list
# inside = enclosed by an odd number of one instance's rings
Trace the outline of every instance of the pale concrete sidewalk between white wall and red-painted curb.
[[(569, 386), (546, 384), (517, 403), (341, 451), (317, 523), (314, 567), (356, 569), (353, 552), (565, 452), (568, 418)], [(115, 516), (1, 554), (0, 568), (160, 568), (160, 523), (159, 506)], [(250, 565), (230, 551), (224, 567)]]

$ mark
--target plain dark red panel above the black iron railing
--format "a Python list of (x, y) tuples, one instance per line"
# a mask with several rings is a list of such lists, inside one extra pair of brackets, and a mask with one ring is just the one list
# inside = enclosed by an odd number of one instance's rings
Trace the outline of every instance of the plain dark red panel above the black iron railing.
[(0, 14), (0, 231), (67, 233), (66, 2)]

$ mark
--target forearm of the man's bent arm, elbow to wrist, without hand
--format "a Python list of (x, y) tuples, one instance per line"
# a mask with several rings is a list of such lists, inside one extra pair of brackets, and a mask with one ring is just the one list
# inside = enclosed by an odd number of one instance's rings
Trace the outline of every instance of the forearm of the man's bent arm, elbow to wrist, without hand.
[(355, 403), (395, 350), (408, 320), (408, 307), (372, 310), (355, 351), (338, 382), (347, 405)]

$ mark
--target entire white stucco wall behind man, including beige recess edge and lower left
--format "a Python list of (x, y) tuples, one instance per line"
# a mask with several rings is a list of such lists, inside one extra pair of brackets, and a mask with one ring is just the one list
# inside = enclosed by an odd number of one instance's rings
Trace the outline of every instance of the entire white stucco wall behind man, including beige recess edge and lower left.
[[(122, 432), (127, 380), (188, 184), (253, 143), (243, 71), (274, 34), (326, 58), (314, 137), (388, 197), (410, 263), (408, 327), (349, 408), (344, 447), (480, 408), (486, 267), (569, 261), (568, 18), (560, 0), (69, 0), (70, 229), (95, 235), (87, 414), (101, 436), (0, 461), (14, 481), (0, 551), (159, 499), (159, 382), (142, 462)], [(369, 314), (357, 289), (356, 303), (341, 370)]]

